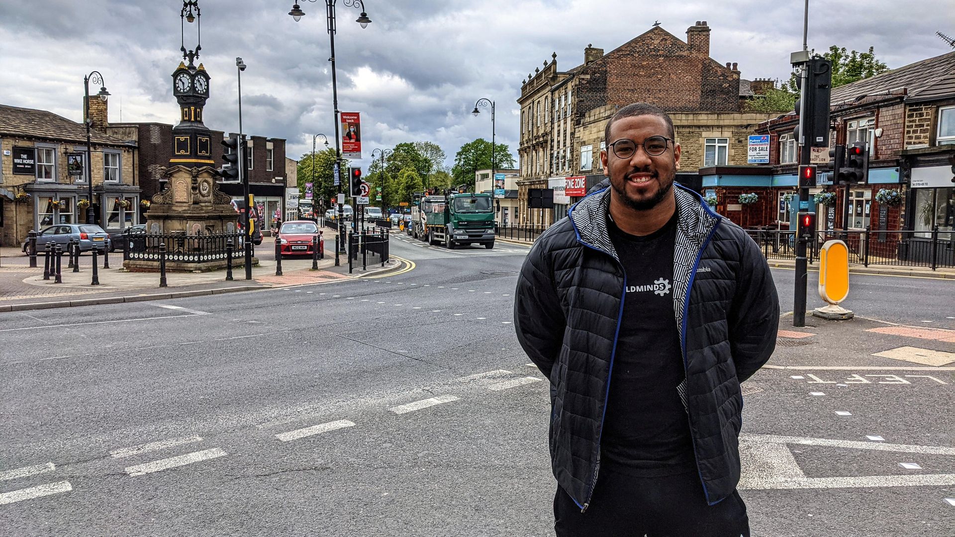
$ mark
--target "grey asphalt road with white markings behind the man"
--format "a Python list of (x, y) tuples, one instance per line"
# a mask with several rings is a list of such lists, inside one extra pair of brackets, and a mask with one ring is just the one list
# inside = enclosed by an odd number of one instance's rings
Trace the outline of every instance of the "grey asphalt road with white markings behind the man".
[[(510, 324), (527, 248), (395, 238), (414, 269), (0, 314), (4, 533), (552, 535), (547, 382)], [(952, 327), (951, 282), (853, 285), (860, 315)], [(847, 369), (748, 382), (753, 535), (950, 537), (953, 372), (871, 354), (951, 343), (813, 325), (771, 363)]]

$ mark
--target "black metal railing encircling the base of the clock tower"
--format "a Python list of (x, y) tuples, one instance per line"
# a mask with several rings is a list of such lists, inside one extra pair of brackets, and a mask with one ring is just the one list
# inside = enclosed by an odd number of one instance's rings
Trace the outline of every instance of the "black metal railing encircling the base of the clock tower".
[(227, 259), (228, 242), (232, 241), (232, 259), (244, 255), (243, 233), (130, 233), (120, 240), (123, 260), (159, 261), (159, 245), (165, 245), (166, 261), (175, 263), (202, 263)]

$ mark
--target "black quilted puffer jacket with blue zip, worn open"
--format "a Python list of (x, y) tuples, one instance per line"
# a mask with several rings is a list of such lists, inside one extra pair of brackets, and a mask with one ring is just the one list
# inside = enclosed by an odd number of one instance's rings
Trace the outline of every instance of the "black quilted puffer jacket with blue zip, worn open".
[[(673, 314), (686, 379), (696, 466), (716, 504), (739, 481), (739, 383), (775, 348), (779, 303), (753, 240), (674, 184), (678, 224)], [(609, 189), (588, 195), (544, 232), (520, 270), (514, 320), (520, 345), (550, 378), (554, 476), (582, 508), (600, 471), (600, 439), (626, 276), (606, 228)]]

